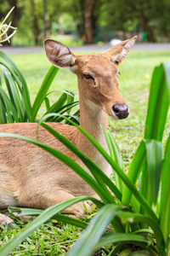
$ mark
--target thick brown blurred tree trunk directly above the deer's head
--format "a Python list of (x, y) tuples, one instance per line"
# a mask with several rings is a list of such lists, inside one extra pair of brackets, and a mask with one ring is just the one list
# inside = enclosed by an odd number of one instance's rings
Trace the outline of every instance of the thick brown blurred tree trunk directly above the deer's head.
[(96, 0), (88, 0), (84, 13), (85, 44), (94, 43), (95, 19), (94, 8)]

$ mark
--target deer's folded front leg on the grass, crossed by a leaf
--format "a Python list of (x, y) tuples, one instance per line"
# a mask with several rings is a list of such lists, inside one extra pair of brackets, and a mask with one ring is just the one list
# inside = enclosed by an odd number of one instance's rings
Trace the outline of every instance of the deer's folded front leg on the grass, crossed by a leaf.
[[(56, 189), (53, 192), (51, 190), (48, 192), (47, 191), (42, 192), (41, 195), (31, 195), (31, 193), (29, 193), (27, 196), (25, 195), (24, 198), (22, 198), (21, 196), (19, 198), (19, 205), (20, 207), (33, 207), (33, 208), (39, 208), (39, 209), (46, 209), (48, 207), (52, 207), (56, 204), (59, 204), (62, 201), (66, 201), (72, 198), (75, 198), (75, 196), (71, 195), (65, 190)], [(86, 202), (83, 202), (83, 203), (86, 205), (88, 212), (90, 212), (91, 208), (88, 205), (88, 203)], [(71, 207), (67, 207), (62, 211), (62, 213), (71, 215), (74, 218), (80, 218), (81, 216), (84, 215), (84, 212), (85, 212), (83, 203), (78, 202), (77, 204), (72, 205)]]

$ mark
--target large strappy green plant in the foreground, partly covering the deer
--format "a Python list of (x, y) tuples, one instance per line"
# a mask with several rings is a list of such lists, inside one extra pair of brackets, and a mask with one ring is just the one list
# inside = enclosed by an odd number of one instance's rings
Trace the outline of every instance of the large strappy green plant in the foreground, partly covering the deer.
[[(1, 255), (7, 255), (14, 247), (26, 239), (37, 227), (48, 218), (56, 218), (63, 222), (77, 225), (86, 230), (82, 236), (71, 247), (68, 255), (91, 255), (100, 247), (108, 244), (111, 247), (110, 255), (135, 255), (133, 246), (139, 249), (138, 255), (169, 255), (170, 252), (170, 226), (169, 212), (170, 200), (168, 191), (170, 189), (170, 177), (168, 175), (170, 166), (170, 137), (167, 139), (165, 154), (162, 156), (162, 135), (167, 118), (167, 110), (170, 99), (170, 63), (163, 63), (156, 67), (150, 87), (150, 100), (148, 114), (145, 124), (144, 140), (136, 150), (127, 175), (122, 169), (122, 160), (119, 149), (111, 136), (111, 132), (105, 137), (109, 145), (111, 156), (90, 137), (86, 131), (77, 125), (88, 139), (94, 143), (100, 153), (111, 164), (116, 173), (116, 184), (105, 176), (94, 163), (82, 154), (65, 137), (54, 131), (48, 125), (42, 124), (54, 137), (59, 139), (77, 154), (83, 163), (88, 166), (93, 177), (82, 170), (73, 160), (61, 154), (54, 148), (49, 148), (42, 143), (33, 141), (26, 137), (14, 136), (10, 134), (0, 134), (0, 136), (11, 136), (25, 139), (30, 143), (44, 148), (50, 154), (54, 154), (59, 160), (70, 166), (77, 172), (101, 197), (103, 202), (94, 198), (80, 196), (70, 201), (65, 201), (57, 206), (50, 207), (45, 211), (36, 209), (21, 209), (22, 214), (39, 215), (25, 229), (21, 230), (14, 239), (8, 242), (0, 250)], [(59, 114), (56, 114), (59, 116)], [(48, 115), (49, 117), (50, 115)], [(116, 195), (113, 197), (109, 189)], [(77, 201), (92, 200), (99, 207), (99, 212), (91, 220), (90, 224), (84, 224), (80, 220), (75, 220), (59, 214), (65, 207)], [(108, 224), (111, 224), (114, 232), (105, 232)]]

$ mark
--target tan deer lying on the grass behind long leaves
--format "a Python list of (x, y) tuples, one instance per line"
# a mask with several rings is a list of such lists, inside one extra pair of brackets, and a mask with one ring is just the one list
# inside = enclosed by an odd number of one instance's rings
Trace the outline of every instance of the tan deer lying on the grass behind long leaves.
[[(103, 53), (75, 55), (65, 45), (52, 39), (44, 41), (44, 49), (55, 67), (67, 68), (77, 75), (79, 92), (80, 126), (109, 152), (101, 129), (108, 129), (111, 119), (126, 119), (129, 109), (118, 90), (119, 65), (127, 57), (136, 36), (112, 46)], [(111, 177), (111, 166), (74, 125), (48, 123), (55, 131), (65, 136), (90, 160)], [(37, 123), (14, 123), (0, 125), (0, 132), (20, 134), (37, 139)], [(38, 131), (40, 142), (56, 148), (75, 160), (86, 172), (81, 160), (59, 143), (42, 126)], [(78, 195), (95, 197), (94, 190), (68, 166), (48, 154), (42, 148), (13, 137), (0, 139), (0, 208), (32, 207), (46, 209)], [(90, 174), (91, 175), (91, 174)], [(82, 202), (63, 211), (75, 218), (84, 213)], [(0, 214), (0, 223), (8, 222)], [(10, 223), (10, 220), (9, 220)]]

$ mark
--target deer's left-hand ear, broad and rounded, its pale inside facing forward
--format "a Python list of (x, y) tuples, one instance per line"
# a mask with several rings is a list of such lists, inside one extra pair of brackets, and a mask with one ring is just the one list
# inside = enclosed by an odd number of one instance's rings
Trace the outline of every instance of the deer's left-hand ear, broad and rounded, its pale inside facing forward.
[(65, 45), (55, 40), (47, 39), (44, 41), (44, 48), (48, 60), (56, 67), (70, 68), (76, 65), (76, 56)]

